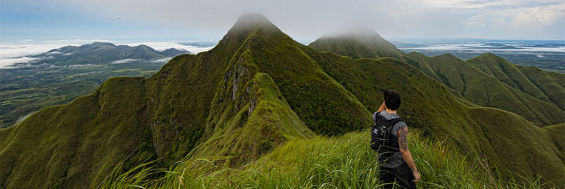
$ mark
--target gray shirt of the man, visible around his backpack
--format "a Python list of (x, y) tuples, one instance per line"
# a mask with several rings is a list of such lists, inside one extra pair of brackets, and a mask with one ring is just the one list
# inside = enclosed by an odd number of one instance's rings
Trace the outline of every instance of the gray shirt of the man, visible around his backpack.
[[(373, 113), (373, 121), (375, 120), (375, 116), (376, 116), (377, 112)], [(385, 120), (392, 120), (394, 118), (400, 118), (400, 116), (398, 116), (396, 113), (386, 113), (386, 111), (382, 111), (381, 112), (381, 116), (383, 116), (385, 118)], [(398, 141), (398, 138), (396, 137), (396, 134), (398, 133), (398, 130), (404, 128), (406, 125), (405, 122), (403, 121), (399, 121), (397, 122), (397, 124), (395, 124), (392, 128), (392, 130), (390, 131), (390, 134), (392, 134), (391, 138), (394, 141)], [(396, 168), (399, 165), (402, 165), (402, 163), (404, 162), (404, 159), (402, 159), (402, 155), (400, 152), (389, 152), (389, 153), (383, 153), (379, 156), (379, 163), (381, 164), (381, 166), (384, 166), (385, 168)]]

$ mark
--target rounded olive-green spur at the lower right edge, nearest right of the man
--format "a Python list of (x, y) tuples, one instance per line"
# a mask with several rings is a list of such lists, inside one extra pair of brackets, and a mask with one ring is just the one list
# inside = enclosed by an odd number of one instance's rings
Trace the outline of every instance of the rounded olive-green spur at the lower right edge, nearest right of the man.
[(494, 147), (497, 155), (501, 157), (502, 164), (512, 172), (524, 177), (532, 178), (528, 175), (542, 175), (545, 179), (557, 183), (558, 186), (563, 186), (565, 184), (563, 181), (565, 165), (559, 159), (559, 148), (551, 144), (553, 142), (551, 135), (547, 134), (543, 128), (534, 128), (532, 124), (517, 115), (512, 117), (507, 116), (508, 112), (492, 110), (475, 108), (472, 109), (470, 115), (492, 120), (490, 122), (480, 121), (476, 124), (483, 125), (485, 137)]

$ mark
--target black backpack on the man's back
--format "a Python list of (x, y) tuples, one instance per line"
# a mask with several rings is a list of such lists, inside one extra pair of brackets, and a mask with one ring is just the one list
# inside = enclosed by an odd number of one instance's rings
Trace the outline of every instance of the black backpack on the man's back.
[(375, 123), (371, 128), (371, 148), (379, 153), (399, 152), (398, 141), (393, 141), (390, 131), (392, 131), (394, 125), (402, 120), (394, 118), (387, 121), (381, 116), (381, 112), (377, 112), (373, 121)]

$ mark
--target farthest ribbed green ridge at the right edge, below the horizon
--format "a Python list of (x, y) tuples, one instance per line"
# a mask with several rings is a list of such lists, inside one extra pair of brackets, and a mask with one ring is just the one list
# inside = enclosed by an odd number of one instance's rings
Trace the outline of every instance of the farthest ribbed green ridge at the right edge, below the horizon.
[[(560, 109), (565, 109), (565, 83), (555, 80), (547, 71), (535, 67), (527, 68), (509, 63), (491, 53), (467, 60), (468, 63), (479, 68), (486, 74), (496, 77), (499, 81), (514, 87), (534, 98), (554, 104)], [(554, 73), (557, 77), (565, 75)], [(562, 82), (562, 83), (559, 83)]]

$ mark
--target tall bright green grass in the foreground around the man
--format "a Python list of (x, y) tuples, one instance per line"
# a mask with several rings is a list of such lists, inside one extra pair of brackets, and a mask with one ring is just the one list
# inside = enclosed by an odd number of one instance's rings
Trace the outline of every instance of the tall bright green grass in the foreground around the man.
[[(377, 153), (368, 141), (367, 132), (294, 140), (241, 168), (225, 166), (231, 157), (197, 158), (191, 152), (168, 170), (147, 169), (147, 163), (120, 174), (115, 169), (101, 188), (382, 188)], [(409, 146), (421, 174), (419, 188), (550, 187), (541, 178), (498, 179), (484, 160), (468, 160), (441, 141), (411, 131)], [(149, 179), (158, 173), (164, 176)]]

